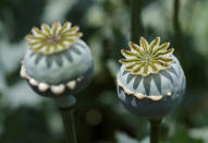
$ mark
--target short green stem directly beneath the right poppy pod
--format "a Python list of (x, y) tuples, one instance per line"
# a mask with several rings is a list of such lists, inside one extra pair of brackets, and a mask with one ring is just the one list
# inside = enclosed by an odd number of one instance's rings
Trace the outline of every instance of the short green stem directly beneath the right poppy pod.
[(150, 143), (159, 143), (159, 126), (162, 119), (148, 119), (150, 122)]

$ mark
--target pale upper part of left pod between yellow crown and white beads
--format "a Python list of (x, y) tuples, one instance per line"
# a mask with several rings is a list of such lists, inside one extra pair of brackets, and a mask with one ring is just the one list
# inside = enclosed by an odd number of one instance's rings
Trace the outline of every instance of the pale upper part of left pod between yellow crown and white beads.
[(27, 48), (24, 65), (30, 78), (57, 85), (86, 76), (91, 72), (93, 57), (88, 46), (78, 40), (69, 49), (54, 55), (33, 52)]

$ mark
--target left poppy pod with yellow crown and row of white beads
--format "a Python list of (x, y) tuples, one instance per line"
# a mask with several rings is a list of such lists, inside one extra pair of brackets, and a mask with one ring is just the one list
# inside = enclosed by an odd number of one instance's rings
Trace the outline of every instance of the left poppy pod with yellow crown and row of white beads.
[(78, 26), (54, 22), (34, 27), (21, 76), (40, 95), (70, 95), (83, 90), (93, 78), (94, 63), (88, 46), (79, 39)]

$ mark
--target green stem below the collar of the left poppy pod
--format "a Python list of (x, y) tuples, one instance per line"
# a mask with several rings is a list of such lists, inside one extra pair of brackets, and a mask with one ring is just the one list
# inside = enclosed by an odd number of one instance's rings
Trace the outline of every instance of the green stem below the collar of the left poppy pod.
[(63, 127), (65, 130), (65, 136), (68, 140), (68, 143), (76, 143), (76, 132), (75, 132), (75, 126), (74, 126), (74, 108), (60, 108), (62, 120), (63, 120)]

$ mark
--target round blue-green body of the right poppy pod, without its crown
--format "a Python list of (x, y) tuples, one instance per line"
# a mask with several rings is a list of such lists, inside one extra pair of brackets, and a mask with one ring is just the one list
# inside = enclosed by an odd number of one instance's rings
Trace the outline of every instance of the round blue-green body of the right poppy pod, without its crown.
[(186, 85), (183, 69), (173, 55), (166, 58), (172, 59), (167, 68), (145, 75), (133, 74), (125, 64), (121, 67), (117, 78), (118, 96), (131, 112), (146, 118), (161, 118), (182, 102)]

